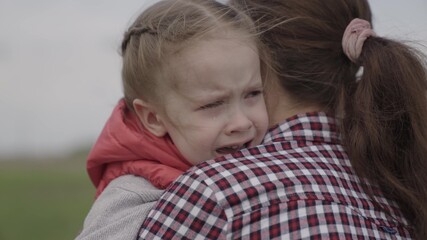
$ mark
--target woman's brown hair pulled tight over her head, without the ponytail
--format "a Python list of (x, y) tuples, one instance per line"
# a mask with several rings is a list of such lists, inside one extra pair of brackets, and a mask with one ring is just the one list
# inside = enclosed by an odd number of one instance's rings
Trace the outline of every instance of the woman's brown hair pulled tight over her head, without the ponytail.
[(294, 97), (328, 110), (338, 104), (343, 82), (357, 66), (345, 57), (341, 40), (353, 18), (371, 20), (365, 1), (232, 0), (256, 21), (271, 50), (280, 83)]

